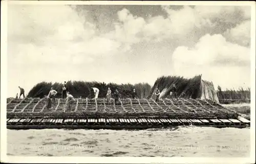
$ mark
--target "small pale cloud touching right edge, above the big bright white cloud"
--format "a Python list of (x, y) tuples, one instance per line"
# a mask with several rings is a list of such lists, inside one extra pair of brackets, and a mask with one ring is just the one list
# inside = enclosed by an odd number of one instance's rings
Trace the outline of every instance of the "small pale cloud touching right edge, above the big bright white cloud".
[(249, 46), (250, 45), (250, 37), (251, 37), (251, 21), (245, 20), (241, 24), (238, 24), (236, 27), (232, 29), (228, 29), (224, 36), (231, 40), (232, 42), (236, 42), (238, 44)]

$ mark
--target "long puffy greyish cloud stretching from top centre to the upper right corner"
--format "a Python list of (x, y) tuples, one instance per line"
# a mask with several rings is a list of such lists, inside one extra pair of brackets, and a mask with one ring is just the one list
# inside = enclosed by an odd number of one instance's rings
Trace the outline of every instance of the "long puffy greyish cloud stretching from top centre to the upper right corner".
[[(250, 19), (250, 7), (238, 6), (183, 6), (172, 9), (162, 6), (167, 16), (137, 17), (127, 9), (118, 11), (118, 21), (112, 34), (121, 42), (197, 39), (207, 33), (223, 34)], [(233, 36), (233, 35), (231, 35)], [(236, 36), (234, 36), (236, 37)], [(230, 39), (231, 41), (236, 39)]]

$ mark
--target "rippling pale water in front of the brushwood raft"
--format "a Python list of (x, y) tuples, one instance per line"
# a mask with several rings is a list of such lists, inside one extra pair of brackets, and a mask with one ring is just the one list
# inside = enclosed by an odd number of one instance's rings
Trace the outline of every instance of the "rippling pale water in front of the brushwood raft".
[(7, 155), (249, 157), (250, 129), (9, 130)]

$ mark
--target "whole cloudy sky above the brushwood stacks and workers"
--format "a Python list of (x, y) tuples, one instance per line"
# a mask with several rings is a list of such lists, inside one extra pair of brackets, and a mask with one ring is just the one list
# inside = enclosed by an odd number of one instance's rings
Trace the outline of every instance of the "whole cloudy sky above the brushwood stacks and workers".
[(38, 82), (202, 74), (250, 87), (250, 6), (8, 5), (8, 97)]

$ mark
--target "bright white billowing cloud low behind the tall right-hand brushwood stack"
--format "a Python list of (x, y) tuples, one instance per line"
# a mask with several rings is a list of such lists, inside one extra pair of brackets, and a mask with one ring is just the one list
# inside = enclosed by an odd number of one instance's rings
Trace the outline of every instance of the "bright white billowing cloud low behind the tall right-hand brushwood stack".
[(224, 88), (250, 85), (250, 49), (227, 42), (220, 34), (203, 36), (193, 48), (179, 46), (173, 65), (176, 75), (202, 74)]

